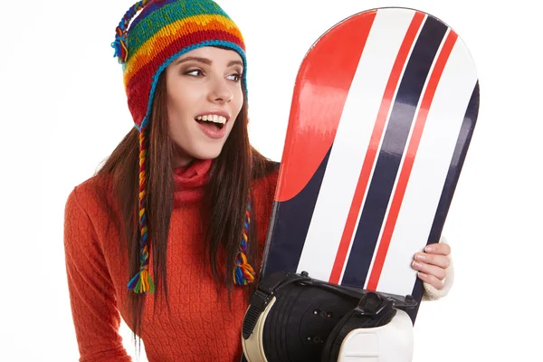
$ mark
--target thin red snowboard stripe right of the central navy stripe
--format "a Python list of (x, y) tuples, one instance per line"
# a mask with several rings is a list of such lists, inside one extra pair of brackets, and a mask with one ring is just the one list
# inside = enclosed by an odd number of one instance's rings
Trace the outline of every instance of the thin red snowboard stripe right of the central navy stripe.
[(369, 291), (376, 291), (379, 278), (381, 277), (381, 271), (383, 271), (383, 265), (386, 259), (386, 252), (388, 252), (390, 240), (392, 239), (392, 234), (394, 233), (395, 223), (397, 221), (398, 214), (400, 213), (402, 201), (404, 200), (407, 182), (409, 181), (409, 176), (411, 175), (411, 170), (413, 169), (414, 157), (416, 157), (416, 151), (423, 136), (428, 110), (430, 110), (433, 95), (435, 94), (435, 90), (437, 89), (437, 85), (439, 84), (443, 74), (443, 69), (449, 60), (449, 55), (451, 55), (452, 47), (454, 46), (454, 43), (456, 43), (457, 38), (458, 35), (450, 31), (445, 43), (443, 44), (442, 51), (435, 62), (432, 75), (430, 76), (430, 80), (426, 86), (424, 98), (421, 102), (421, 106), (414, 124), (413, 134), (405, 154), (404, 165), (398, 178), (395, 195), (392, 200), (392, 204), (390, 205), (385, 229), (383, 231), (383, 236), (381, 237), (381, 243), (379, 243), (379, 248), (376, 253), (376, 260), (369, 276), (369, 281), (367, 281), (367, 290)]

